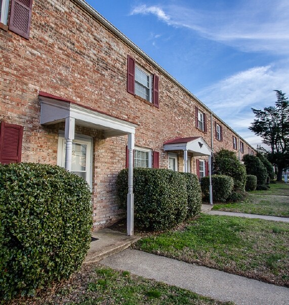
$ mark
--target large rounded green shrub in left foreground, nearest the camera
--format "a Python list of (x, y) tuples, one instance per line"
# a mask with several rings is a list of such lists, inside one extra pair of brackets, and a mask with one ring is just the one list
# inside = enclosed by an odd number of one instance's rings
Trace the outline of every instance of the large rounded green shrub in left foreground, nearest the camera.
[(33, 295), (36, 288), (68, 278), (85, 259), (90, 188), (59, 166), (0, 165), (0, 219), (2, 298)]

